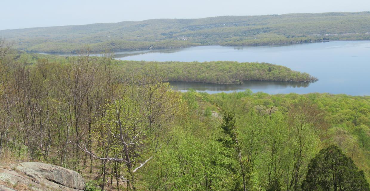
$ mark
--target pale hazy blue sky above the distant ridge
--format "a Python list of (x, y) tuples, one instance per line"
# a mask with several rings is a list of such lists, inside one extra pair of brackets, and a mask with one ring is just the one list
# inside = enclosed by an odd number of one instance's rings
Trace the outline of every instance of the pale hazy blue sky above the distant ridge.
[(1, 0), (0, 30), (185, 19), (223, 15), (263, 15), (370, 11), (370, 0)]

